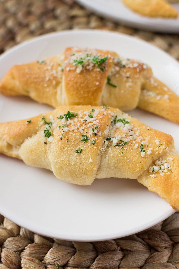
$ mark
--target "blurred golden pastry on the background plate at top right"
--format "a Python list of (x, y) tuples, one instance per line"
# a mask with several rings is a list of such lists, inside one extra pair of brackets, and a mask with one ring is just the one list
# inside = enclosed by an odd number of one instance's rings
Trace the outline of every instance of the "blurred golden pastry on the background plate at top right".
[[(165, 0), (122, 0), (134, 12), (148, 17), (177, 18), (178, 12)], [(173, 2), (173, 1), (172, 1)]]

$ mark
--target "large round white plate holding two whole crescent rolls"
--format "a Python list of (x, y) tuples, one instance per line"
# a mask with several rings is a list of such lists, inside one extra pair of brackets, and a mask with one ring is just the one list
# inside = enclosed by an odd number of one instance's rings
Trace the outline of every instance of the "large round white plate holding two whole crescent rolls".
[[(137, 38), (95, 30), (52, 33), (17, 45), (0, 57), (0, 76), (14, 64), (41, 60), (63, 52), (67, 46), (79, 45), (142, 60), (158, 79), (178, 90), (179, 64), (171, 56)], [(52, 109), (28, 97), (0, 95), (0, 122)], [(178, 125), (139, 109), (130, 114), (170, 133), (179, 149)], [(29, 167), (2, 154), (0, 170), (0, 213), (50, 237), (76, 241), (117, 238), (146, 229), (174, 213), (166, 201), (135, 179), (95, 179), (91, 186), (77, 186), (57, 179), (48, 170)]]

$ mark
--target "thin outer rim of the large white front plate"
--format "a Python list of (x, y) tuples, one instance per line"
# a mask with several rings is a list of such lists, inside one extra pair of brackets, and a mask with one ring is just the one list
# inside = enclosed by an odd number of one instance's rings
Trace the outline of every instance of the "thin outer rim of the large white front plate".
[[(35, 40), (40, 40), (40, 39), (43, 39), (45, 38), (46, 36), (53, 36), (53, 35), (61, 35), (61, 34), (70, 34), (70, 33), (84, 33), (84, 32), (98, 32), (98, 33), (105, 33), (105, 34), (109, 34), (109, 35), (118, 35), (118, 36), (125, 36), (126, 38), (129, 38), (129, 39), (137, 39), (138, 42), (141, 42), (141, 43), (144, 43), (144, 44), (147, 44), (151, 47), (154, 47), (155, 49), (159, 50), (160, 52), (162, 52), (163, 54), (165, 54), (166, 56), (170, 57), (172, 60), (174, 60), (174, 62), (178, 65), (178, 68), (179, 68), (179, 63), (177, 62), (176, 59), (174, 59), (171, 55), (169, 55), (167, 52), (163, 51), (162, 49), (156, 47), (155, 45), (153, 44), (149, 44), (147, 41), (144, 41), (144, 40), (141, 40), (140, 38), (137, 38), (137, 37), (134, 37), (134, 36), (129, 36), (129, 35), (126, 35), (126, 34), (123, 34), (123, 33), (116, 33), (114, 31), (106, 31), (106, 30), (92, 30), (92, 29), (78, 29), (78, 30), (66, 30), (66, 31), (59, 31), (59, 32), (52, 32), (52, 33), (47, 33), (47, 34), (44, 34), (44, 35), (41, 35), (41, 36), (38, 36), (38, 37), (35, 37), (35, 38), (32, 38), (30, 40), (26, 40), (20, 44), (17, 44), (15, 45), (14, 47), (10, 48), (8, 51), (5, 51), (3, 54), (0, 55), (0, 61), (2, 58), (6, 57), (6, 55), (8, 55), (9, 53), (12, 53), (14, 50), (16, 50), (16, 48), (20, 48), (21, 46), (24, 46), (25, 44), (30, 44), (31, 42), (34, 42)], [(7, 210), (6, 210), (7, 211)], [(166, 213), (165, 215), (159, 217), (159, 218), (156, 218), (155, 220), (153, 220), (152, 222), (150, 222), (148, 225), (143, 225), (143, 226), (140, 226), (137, 227), (136, 229), (132, 229), (130, 231), (128, 231), (128, 233), (126, 234), (123, 234), (123, 235), (120, 235), (119, 236), (119, 232), (118, 234), (113, 234), (111, 233), (109, 236), (106, 236), (103, 238), (102, 237), (98, 237), (98, 238), (90, 238), (89, 239), (89, 236), (83, 236), (83, 239), (79, 239), (77, 237), (75, 237), (75, 234), (73, 235), (73, 237), (71, 237), (72, 235), (70, 235), (70, 237), (68, 235), (64, 235), (64, 236), (60, 236), (59, 237), (59, 234), (55, 236), (55, 234), (53, 232), (51, 232), (49, 230), (49, 232), (40, 232), (40, 229), (38, 227), (38, 229), (36, 229), (34, 227), (34, 224), (32, 225), (24, 225), (25, 222), (24, 221), (18, 221), (18, 219), (16, 220), (16, 218), (11, 218), (11, 216), (7, 213), (5, 213), (3, 210), (1, 212), (2, 215), (4, 215), (5, 217), (7, 217), (9, 220), (12, 220), (13, 222), (15, 222), (16, 224), (18, 224), (19, 226), (23, 226), (25, 228), (27, 228), (28, 230), (32, 231), (32, 232), (35, 232), (35, 233), (38, 233), (38, 234), (41, 234), (41, 235), (45, 235), (45, 236), (49, 236), (49, 237), (53, 237), (53, 238), (60, 238), (60, 239), (63, 239), (63, 240), (71, 240), (71, 241), (81, 241), (81, 242), (90, 242), (90, 241), (99, 241), (99, 240), (110, 240), (110, 239), (115, 239), (115, 238), (119, 238), (119, 237), (124, 237), (124, 236), (128, 236), (128, 235), (131, 235), (131, 234), (134, 234), (134, 233), (138, 233), (140, 231), (143, 231), (145, 229), (148, 229), (154, 225), (156, 225), (157, 223), (159, 223), (160, 221), (163, 221), (165, 220), (167, 217), (171, 216), (172, 214), (174, 214), (176, 212), (176, 210), (174, 209), (170, 209), (168, 211), (168, 213)], [(42, 229), (41, 229), (42, 230)]]

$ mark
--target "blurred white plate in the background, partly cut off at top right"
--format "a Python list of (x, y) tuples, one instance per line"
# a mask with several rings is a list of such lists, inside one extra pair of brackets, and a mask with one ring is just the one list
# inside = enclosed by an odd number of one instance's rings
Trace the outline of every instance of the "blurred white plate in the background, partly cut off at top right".
[[(149, 18), (127, 8), (121, 0), (76, 0), (79, 4), (125, 26), (163, 33), (179, 33), (177, 19)], [(171, 4), (179, 14), (179, 3)]]

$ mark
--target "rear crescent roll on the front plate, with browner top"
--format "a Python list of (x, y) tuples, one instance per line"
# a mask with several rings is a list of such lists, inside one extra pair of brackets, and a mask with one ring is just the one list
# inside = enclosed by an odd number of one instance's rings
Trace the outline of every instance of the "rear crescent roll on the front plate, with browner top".
[(155, 79), (144, 63), (119, 58), (111, 51), (66, 48), (40, 62), (15, 65), (0, 83), (6, 95), (28, 95), (53, 107), (137, 106), (179, 123), (179, 98)]

